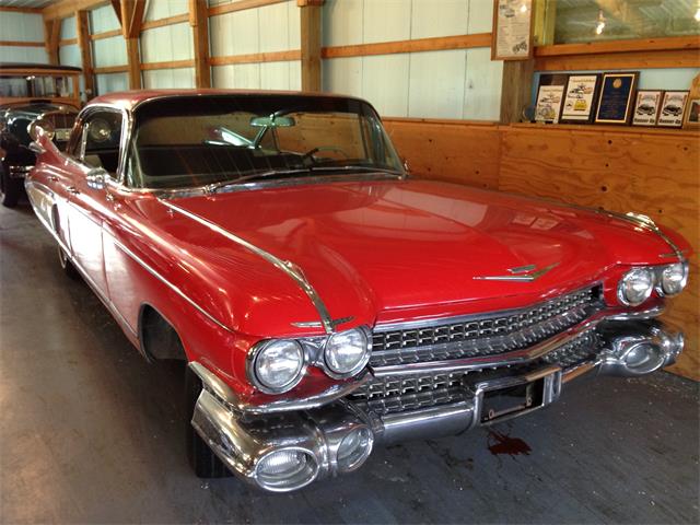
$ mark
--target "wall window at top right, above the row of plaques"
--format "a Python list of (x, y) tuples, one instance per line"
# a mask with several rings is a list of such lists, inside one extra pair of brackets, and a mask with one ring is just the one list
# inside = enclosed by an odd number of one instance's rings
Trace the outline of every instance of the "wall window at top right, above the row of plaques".
[[(700, 0), (544, 0), (544, 44), (574, 44), (700, 34)], [(552, 38), (553, 37), (553, 38)], [(552, 42), (553, 40), (553, 42)]]

